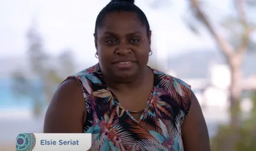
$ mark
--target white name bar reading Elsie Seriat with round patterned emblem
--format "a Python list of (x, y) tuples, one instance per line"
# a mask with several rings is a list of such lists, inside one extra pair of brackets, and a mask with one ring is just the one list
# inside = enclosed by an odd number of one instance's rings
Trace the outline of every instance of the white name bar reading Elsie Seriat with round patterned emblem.
[(85, 151), (92, 144), (89, 133), (21, 133), (16, 138), (16, 150), (25, 151)]

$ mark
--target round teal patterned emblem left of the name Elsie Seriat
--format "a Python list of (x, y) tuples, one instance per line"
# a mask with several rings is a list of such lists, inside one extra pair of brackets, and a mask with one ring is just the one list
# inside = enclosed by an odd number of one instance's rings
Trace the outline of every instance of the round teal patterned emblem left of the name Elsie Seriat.
[(23, 133), (16, 137), (17, 151), (32, 151), (36, 146), (36, 137), (33, 133)]

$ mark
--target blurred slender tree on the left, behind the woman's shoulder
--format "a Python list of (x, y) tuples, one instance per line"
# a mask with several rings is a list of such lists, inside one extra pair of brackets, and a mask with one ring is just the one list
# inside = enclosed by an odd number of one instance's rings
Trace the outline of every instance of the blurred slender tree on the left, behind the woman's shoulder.
[[(17, 97), (29, 97), (33, 115), (40, 117), (57, 86), (74, 71), (71, 50), (66, 49), (58, 57), (49, 56), (35, 22), (27, 31), (28, 65), (31, 73), (17, 69), (12, 73), (13, 92)], [(61, 75), (60, 75), (61, 73)]]

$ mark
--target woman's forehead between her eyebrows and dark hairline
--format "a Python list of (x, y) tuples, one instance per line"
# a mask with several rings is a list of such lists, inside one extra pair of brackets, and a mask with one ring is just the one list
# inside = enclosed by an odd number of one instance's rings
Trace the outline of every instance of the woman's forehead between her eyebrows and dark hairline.
[(105, 15), (98, 33), (112, 32), (126, 34), (141, 32), (146, 33), (146, 27), (142, 24), (135, 12), (111, 12)]

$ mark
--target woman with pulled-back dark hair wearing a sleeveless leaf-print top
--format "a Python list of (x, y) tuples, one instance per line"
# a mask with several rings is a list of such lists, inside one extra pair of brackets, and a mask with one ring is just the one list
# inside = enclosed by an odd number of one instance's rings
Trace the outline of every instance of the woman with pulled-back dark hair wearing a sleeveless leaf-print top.
[(44, 133), (92, 133), (92, 150), (210, 150), (191, 87), (149, 68), (151, 30), (134, 1), (111, 1), (95, 26), (99, 63), (58, 87)]

